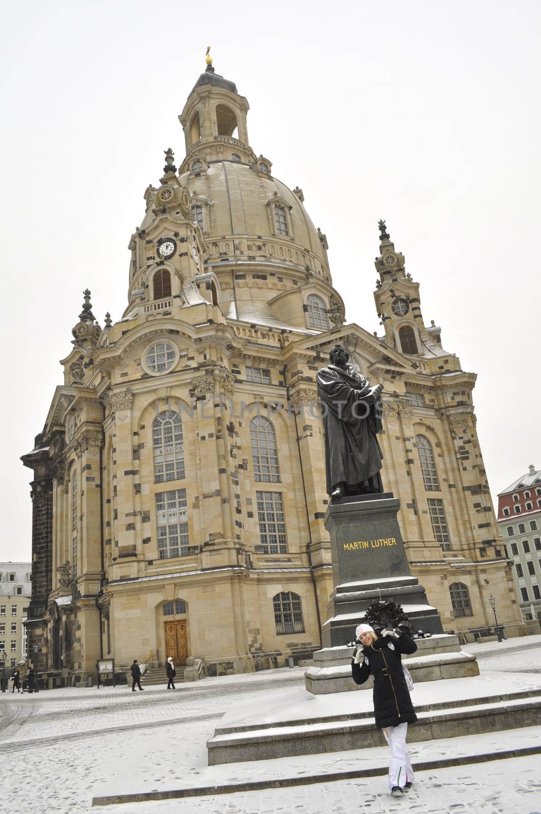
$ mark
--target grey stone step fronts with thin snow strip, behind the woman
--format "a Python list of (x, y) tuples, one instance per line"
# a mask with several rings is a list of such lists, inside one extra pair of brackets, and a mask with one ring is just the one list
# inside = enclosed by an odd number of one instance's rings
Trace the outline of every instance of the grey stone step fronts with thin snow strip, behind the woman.
[[(408, 728), (408, 742), (537, 726), (541, 724), (541, 691), (421, 705), (416, 713), (418, 720)], [(207, 742), (209, 765), (364, 749), (385, 742), (373, 714), (367, 711), (256, 726), (254, 721), (248, 726), (218, 727)]]

